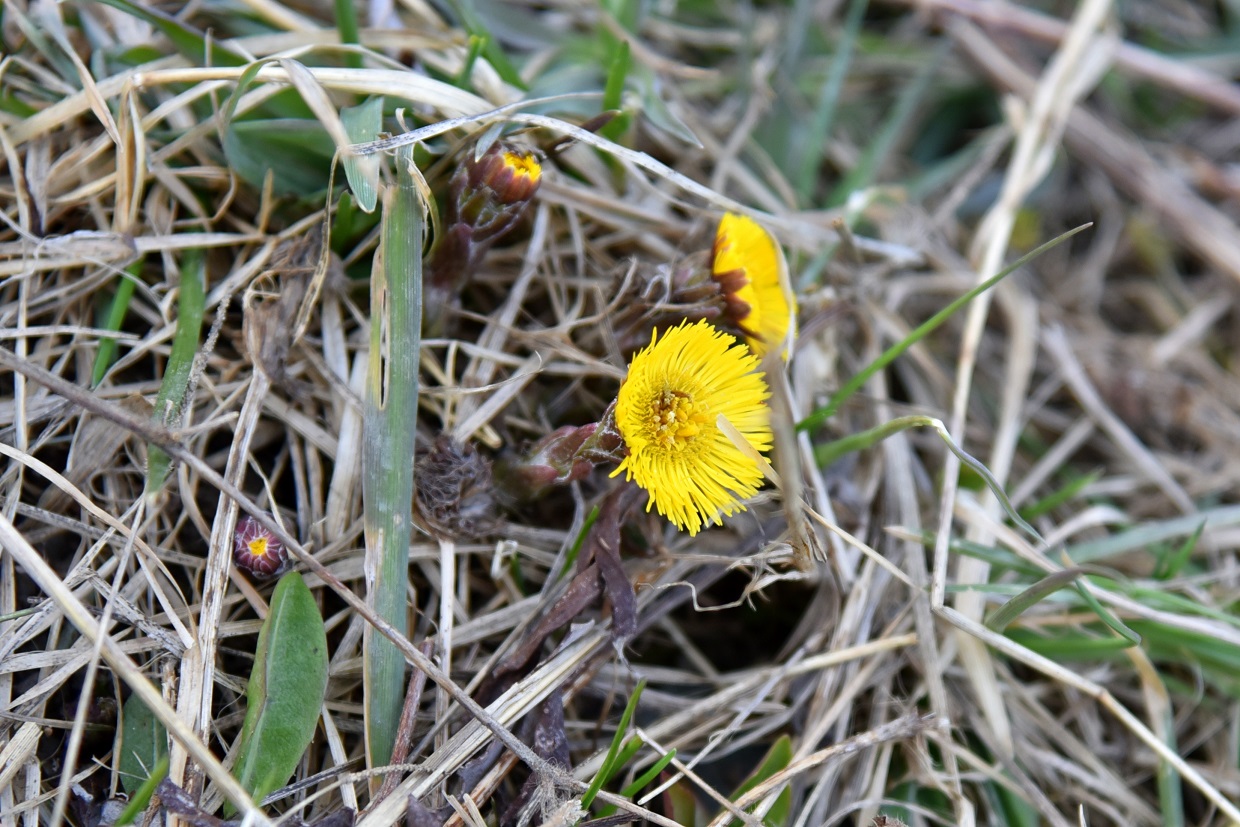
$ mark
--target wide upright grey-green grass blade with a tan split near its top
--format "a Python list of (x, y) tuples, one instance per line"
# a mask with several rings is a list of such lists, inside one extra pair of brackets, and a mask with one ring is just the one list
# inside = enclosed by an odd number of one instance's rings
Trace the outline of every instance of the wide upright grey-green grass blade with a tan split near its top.
[[(383, 193), (379, 252), (371, 276), (371, 353), (362, 428), (362, 501), (374, 611), (408, 635), (413, 446), (422, 347), (424, 201), (410, 171), (412, 148), (396, 157)], [(367, 630), (363, 657), (366, 743), (371, 765), (392, 759), (404, 704), (404, 657)]]

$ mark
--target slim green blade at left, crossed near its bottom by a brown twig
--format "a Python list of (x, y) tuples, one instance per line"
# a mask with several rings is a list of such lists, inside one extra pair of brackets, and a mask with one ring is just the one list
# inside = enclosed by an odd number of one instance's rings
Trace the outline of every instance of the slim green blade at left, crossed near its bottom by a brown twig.
[[(181, 420), (181, 407), (190, 387), (193, 360), (198, 352), (202, 314), (206, 310), (206, 265), (201, 249), (186, 250), (181, 262), (181, 293), (176, 304), (176, 334), (172, 351), (164, 369), (164, 381), (155, 397), (156, 422), (174, 427)], [(164, 487), (171, 460), (162, 449), (150, 446), (146, 460), (146, 496), (155, 496)]]

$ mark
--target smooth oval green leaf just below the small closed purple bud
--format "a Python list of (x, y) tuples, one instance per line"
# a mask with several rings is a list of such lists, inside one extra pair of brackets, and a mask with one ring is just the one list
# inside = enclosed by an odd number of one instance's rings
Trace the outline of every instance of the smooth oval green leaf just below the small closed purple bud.
[(275, 586), (258, 632), (233, 775), (255, 801), (283, 787), (314, 738), (327, 692), (327, 634), (298, 572)]

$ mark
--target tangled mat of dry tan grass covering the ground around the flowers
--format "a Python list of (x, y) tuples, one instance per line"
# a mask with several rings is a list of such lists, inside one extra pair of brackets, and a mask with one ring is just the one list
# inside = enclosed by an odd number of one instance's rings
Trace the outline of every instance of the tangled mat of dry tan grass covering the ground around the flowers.
[[(490, 702), (490, 728), (448, 683), (475, 692), (548, 613), (615, 481), (598, 472), (506, 511), (484, 541), (415, 534), (410, 641), (434, 674), (410, 672), (425, 686), (408, 759), (379, 801), (384, 774), (362, 740), (367, 613), (335, 590), (366, 594), (373, 223), (335, 216), (305, 336), (285, 320), (259, 342), (275, 360), (262, 365), (246, 325), (314, 270), (327, 167), (300, 181), (308, 197), (264, 188), (222, 149), (221, 113), (279, 109), (288, 64), (243, 78), (120, 7), (6, 4), (0, 823), (100, 823), (84, 796), (118, 790), (118, 708), (133, 692), (170, 724), (171, 780), (213, 811), (270, 596), (231, 568), (231, 528), (238, 511), (273, 510), (317, 562), (330, 683), (295, 789), (250, 823), (342, 808), (366, 825), (588, 820), (574, 802), (639, 678), (645, 746), (600, 798), (619, 816), (599, 823), (1240, 823), (1234, 5), (477, 4), (470, 31), (492, 32), (529, 92), (485, 56), (469, 64), (460, 17), (413, 0), (343, 51), (329, 4), (179, 6), (164, 11), (217, 47), (308, 67), (299, 88), (334, 108), (384, 94), (410, 128), (467, 118), (428, 141), (449, 160), (497, 123), (548, 149), (596, 97), (542, 105), (553, 120), (537, 129), (520, 120), (529, 107), (492, 110), (601, 89), (600, 45), (631, 41), (626, 102), (645, 114), (618, 143), (572, 133), (582, 140), (544, 164), (529, 219), (485, 260), (461, 324), (423, 342), (420, 444), (451, 433), (498, 456), (596, 418), (624, 372), (608, 326), (620, 274), (707, 247), (723, 210), (759, 218), (789, 254), (795, 419), (1007, 262), (1092, 227), (797, 435), (782, 491), (801, 480), (791, 511), (831, 565), (791, 565), (774, 486), (696, 538), (635, 510), (639, 634), (621, 657), (609, 606), (591, 605), (578, 617), (590, 625)], [(469, 83), (454, 81), (463, 68)], [(300, 133), (262, 129), (304, 149)], [(423, 169), (441, 193), (450, 165), (434, 160)], [(205, 324), (167, 431), (149, 412), (198, 272)], [(109, 327), (125, 280), (128, 312)], [(92, 387), (109, 340), (115, 363)], [(1014, 529), (932, 430), (815, 461), (906, 414), (946, 423), (1045, 541)], [(144, 497), (151, 443), (176, 461)], [(1078, 567), (1140, 645), (1123, 647), (1071, 589), (986, 622)], [(570, 765), (513, 812), (528, 750), (496, 730), (529, 741), (560, 703)], [(779, 743), (779, 771), (735, 798)], [(670, 749), (655, 782), (615, 795)], [(427, 811), (407, 812), (410, 796)]]

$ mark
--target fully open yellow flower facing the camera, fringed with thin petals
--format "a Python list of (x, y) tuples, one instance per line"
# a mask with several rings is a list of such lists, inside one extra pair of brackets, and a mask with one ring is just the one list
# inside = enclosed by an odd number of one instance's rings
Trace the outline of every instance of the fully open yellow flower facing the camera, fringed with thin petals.
[(696, 534), (763, 482), (754, 456), (719, 429), (719, 417), (758, 451), (771, 446), (770, 391), (748, 347), (706, 321), (682, 322), (632, 357), (616, 397), (615, 420), (629, 455), (625, 472), (651, 506)]

